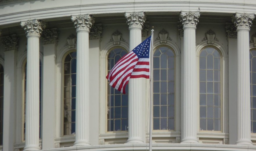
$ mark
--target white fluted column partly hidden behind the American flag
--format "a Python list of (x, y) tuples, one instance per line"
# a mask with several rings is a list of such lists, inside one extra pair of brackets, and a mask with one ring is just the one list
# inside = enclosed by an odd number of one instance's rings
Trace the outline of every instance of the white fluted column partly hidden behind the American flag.
[[(145, 22), (144, 12), (125, 13), (130, 30), (130, 51), (141, 43), (141, 30)], [(145, 87), (143, 79), (136, 78), (129, 81), (129, 116), (128, 140), (126, 143), (143, 143), (142, 138), (142, 102), (145, 102)]]

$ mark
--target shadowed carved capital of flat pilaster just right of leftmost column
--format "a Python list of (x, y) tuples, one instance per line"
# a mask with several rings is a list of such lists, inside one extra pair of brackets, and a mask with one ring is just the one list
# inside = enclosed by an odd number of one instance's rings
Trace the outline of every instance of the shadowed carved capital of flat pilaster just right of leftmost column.
[(57, 28), (47, 29), (42, 32), (43, 44), (57, 44), (59, 31)]

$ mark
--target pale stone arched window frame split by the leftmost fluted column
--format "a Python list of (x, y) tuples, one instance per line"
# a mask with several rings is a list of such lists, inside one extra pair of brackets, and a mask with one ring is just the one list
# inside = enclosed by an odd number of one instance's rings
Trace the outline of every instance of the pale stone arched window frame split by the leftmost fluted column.
[[(39, 60), (41, 62), (41, 71), (43, 71), (43, 54), (39, 52)], [(27, 51), (25, 51), (17, 60), (17, 82), (16, 82), (16, 106), (21, 106), (16, 108), (16, 142), (15, 143), (24, 143), (24, 67), (27, 62)], [(43, 74), (41, 75), (41, 84), (43, 83)], [(42, 103), (42, 86), (41, 85), (41, 103)], [(22, 96), (22, 97), (20, 97)], [(40, 129), (41, 135), (42, 135), (42, 104), (41, 104), (41, 129)], [(39, 143), (41, 143), (42, 137), (39, 140)]]

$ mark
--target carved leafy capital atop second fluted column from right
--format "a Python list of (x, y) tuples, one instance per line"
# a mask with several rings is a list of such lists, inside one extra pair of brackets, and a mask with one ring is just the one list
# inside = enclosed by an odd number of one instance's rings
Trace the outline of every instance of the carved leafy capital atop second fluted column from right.
[(182, 26), (193, 26), (196, 27), (197, 23), (199, 22), (200, 13), (199, 11), (196, 12), (180, 12), (180, 22), (182, 22)]

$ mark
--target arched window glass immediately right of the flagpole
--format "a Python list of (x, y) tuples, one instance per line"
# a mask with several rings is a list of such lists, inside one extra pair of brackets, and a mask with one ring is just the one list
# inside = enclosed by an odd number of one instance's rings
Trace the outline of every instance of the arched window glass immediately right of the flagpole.
[(153, 129), (175, 129), (175, 54), (166, 46), (153, 55)]

